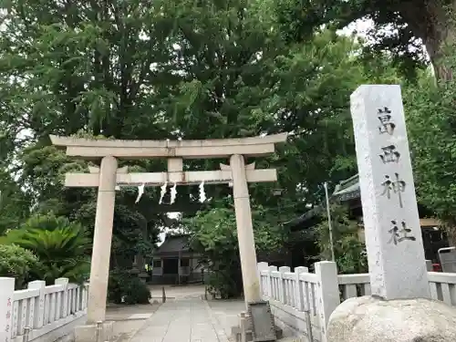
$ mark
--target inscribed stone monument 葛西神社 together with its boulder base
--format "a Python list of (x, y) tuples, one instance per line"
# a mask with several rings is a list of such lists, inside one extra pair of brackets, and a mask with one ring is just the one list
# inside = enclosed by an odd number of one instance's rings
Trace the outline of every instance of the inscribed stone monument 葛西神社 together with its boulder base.
[(456, 310), (430, 300), (399, 86), (359, 87), (351, 113), (372, 295), (337, 306), (327, 342), (454, 341)]

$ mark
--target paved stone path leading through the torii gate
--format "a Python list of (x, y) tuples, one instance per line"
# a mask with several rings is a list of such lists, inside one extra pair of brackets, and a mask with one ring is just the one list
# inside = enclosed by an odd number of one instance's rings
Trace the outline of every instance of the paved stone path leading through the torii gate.
[(167, 301), (130, 342), (228, 342), (226, 327), (206, 301), (182, 298)]

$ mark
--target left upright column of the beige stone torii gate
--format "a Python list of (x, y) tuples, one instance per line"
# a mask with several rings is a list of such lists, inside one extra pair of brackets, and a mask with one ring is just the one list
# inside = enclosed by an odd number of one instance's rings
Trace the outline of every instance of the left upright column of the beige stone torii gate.
[(99, 168), (97, 213), (88, 286), (88, 324), (105, 320), (117, 166), (117, 160), (107, 156), (101, 160)]

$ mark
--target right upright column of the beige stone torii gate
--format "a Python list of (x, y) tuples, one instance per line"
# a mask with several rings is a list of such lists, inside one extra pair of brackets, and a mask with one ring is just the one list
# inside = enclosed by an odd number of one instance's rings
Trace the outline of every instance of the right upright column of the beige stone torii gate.
[(245, 175), (244, 156), (234, 154), (230, 159), (233, 172), (233, 199), (236, 213), (237, 238), (244, 283), (245, 303), (261, 300), (260, 282), (256, 270), (254, 226), (250, 196)]

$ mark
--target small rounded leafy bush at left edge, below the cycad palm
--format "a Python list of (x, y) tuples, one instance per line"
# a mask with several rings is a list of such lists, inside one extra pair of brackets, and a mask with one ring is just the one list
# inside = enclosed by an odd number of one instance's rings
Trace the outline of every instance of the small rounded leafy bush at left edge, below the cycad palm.
[(30, 271), (38, 267), (36, 256), (15, 244), (0, 244), (0, 276), (16, 278), (16, 288), (24, 288), (30, 279)]

